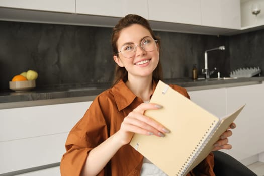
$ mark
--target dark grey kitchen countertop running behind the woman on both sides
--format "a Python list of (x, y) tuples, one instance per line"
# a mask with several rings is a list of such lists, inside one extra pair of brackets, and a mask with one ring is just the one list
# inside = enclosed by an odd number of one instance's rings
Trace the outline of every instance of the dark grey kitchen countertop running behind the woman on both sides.
[[(192, 80), (190, 78), (166, 79), (165, 83), (177, 84), (187, 91), (217, 89), (222, 87), (244, 86), (262, 83), (264, 77), (238, 78), (228, 80)], [(93, 101), (108, 89), (110, 84), (82, 85), (80, 87), (63, 87), (53, 89), (33, 89), (28, 92), (1, 92), (0, 109)]]

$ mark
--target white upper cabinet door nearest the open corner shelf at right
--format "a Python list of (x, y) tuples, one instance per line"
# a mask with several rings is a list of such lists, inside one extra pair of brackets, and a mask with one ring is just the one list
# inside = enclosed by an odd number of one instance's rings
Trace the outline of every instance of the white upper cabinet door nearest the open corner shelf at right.
[(241, 29), (240, 0), (201, 0), (202, 25)]

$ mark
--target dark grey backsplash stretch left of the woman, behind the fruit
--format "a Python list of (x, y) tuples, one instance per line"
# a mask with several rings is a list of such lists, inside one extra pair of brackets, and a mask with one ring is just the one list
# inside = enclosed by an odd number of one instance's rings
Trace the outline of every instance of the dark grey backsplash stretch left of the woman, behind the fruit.
[(38, 87), (112, 81), (111, 28), (0, 22), (1, 90), (16, 74), (39, 73)]

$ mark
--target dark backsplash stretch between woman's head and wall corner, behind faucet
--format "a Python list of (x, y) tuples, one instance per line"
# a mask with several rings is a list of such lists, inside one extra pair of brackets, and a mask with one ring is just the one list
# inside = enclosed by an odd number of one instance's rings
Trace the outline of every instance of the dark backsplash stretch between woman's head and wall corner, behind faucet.
[[(228, 38), (224, 36), (157, 31), (155, 33), (161, 38), (164, 78), (192, 77), (194, 64), (197, 65), (199, 75), (202, 75), (205, 50), (228, 44)], [(208, 67), (210, 70), (216, 67), (223, 75), (229, 74), (228, 50), (208, 52)]]

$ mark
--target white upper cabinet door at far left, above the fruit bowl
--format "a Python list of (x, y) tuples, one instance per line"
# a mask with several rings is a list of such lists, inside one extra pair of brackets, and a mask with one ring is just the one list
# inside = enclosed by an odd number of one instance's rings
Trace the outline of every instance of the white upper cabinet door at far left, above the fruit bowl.
[(1, 0), (0, 7), (75, 13), (75, 0)]

